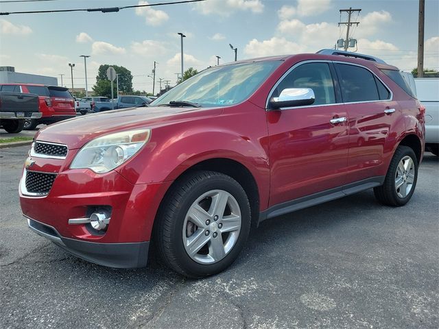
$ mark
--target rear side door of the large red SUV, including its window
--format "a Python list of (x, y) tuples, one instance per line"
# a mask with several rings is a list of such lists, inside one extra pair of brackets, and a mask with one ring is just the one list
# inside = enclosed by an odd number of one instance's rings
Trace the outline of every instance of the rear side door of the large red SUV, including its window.
[(401, 118), (392, 92), (370, 69), (335, 63), (349, 117), (349, 182), (381, 175), (383, 155), (394, 146), (394, 126)]

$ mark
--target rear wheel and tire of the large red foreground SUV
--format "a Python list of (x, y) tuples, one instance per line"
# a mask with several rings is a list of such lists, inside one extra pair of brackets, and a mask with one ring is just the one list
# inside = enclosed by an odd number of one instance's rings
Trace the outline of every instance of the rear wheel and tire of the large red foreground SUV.
[[(385, 175), (384, 184), (373, 189), (375, 197), (381, 204), (404, 206), (409, 202), (418, 180), (418, 160), (413, 149), (399, 146)], [(398, 188), (398, 186), (401, 184)]]

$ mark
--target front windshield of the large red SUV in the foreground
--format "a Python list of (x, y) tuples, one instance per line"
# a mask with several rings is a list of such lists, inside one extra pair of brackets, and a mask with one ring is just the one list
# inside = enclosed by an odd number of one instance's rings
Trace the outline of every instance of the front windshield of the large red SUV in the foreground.
[(252, 62), (215, 66), (191, 77), (152, 102), (190, 101), (200, 106), (231, 106), (246, 100), (281, 62)]

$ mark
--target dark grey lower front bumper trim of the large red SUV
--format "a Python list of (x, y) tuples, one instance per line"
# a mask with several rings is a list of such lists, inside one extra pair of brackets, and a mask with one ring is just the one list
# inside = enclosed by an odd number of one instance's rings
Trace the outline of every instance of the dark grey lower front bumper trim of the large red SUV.
[(56, 228), (27, 217), (29, 228), (62, 249), (91, 263), (107, 267), (135, 268), (147, 265), (150, 243), (96, 243), (61, 236)]

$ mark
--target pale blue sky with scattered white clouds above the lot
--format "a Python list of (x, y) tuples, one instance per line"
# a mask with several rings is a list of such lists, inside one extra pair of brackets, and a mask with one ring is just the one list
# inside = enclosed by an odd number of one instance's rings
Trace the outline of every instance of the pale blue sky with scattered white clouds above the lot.
[[(3, 1), (3, 0), (1, 0)], [(56, 0), (1, 3), (0, 12), (97, 8), (147, 3), (138, 0)], [(149, 3), (169, 0), (149, 0)], [(205, 69), (238, 59), (285, 53), (316, 52), (333, 47), (344, 37), (337, 23), (340, 9), (361, 8), (353, 16), (358, 51), (383, 58), (400, 69), (416, 66), (418, 1), (336, 0), (207, 0), (117, 13), (73, 12), (0, 16), (0, 66), (16, 71), (59, 77), (71, 86), (69, 62), (75, 63), (75, 87), (84, 87), (87, 61), (88, 88), (100, 64), (126, 66), (134, 88), (152, 91), (154, 60), (157, 75), (176, 81), (180, 72), (180, 36), (185, 38), (185, 69)], [(425, 66), (439, 69), (439, 1), (425, 1)], [(342, 21), (346, 16), (342, 16)], [(351, 49), (355, 50), (355, 49)], [(60, 81), (59, 81), (60, 84)]]

